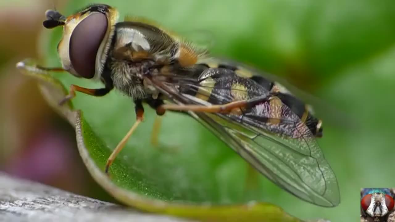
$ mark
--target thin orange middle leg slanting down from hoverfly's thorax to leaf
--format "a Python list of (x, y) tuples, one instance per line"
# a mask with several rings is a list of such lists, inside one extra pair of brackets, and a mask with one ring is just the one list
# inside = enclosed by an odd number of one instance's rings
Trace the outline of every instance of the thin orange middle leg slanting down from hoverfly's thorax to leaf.
[(125, 147), (126, 142), (130, 138), (130, 136), (133, 134), (134, 130), (137, 128), (137, 126), (139, 126), (141, 121), (143, 121), (143, 115), (144, 115), (143, 104), (141, 103), (140, 100), (136, 100), (134, 102), (136, 104), (136, 106), (135, 106), (136, 122), (133, 124), (132, 128), (130, 128), (129, 132), (118, 143), (117, 147), (115, 147), (114, 151), (111, 153), (111, 155), (107, 159), (107, 163), (105, 164), (105, 173), (108, 173), (109, 167), (114, 162), (115, 158), (117, 158), (119, 152)]

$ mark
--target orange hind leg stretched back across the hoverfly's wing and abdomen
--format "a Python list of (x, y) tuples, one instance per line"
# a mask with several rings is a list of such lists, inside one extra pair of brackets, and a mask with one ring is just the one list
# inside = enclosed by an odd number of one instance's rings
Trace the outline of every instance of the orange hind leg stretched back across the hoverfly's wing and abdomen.
[(270, 100), (269, 96), (259, 96), (248, 100), (239, 100), (222, 105), (178, 105), (178, 104), (164, 104), (158, 107), (161, 111), (175, 110), (175, 111), (194, 111), (205, 113), (230, 113), (233, 109), (252, 107), (258, 103), (267, 102)]

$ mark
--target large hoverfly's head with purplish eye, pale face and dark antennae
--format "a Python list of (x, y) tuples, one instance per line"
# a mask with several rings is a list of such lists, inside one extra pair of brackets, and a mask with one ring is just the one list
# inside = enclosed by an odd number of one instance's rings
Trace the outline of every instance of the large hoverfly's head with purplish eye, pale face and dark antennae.
[(95, 4), (69, 17), (54, 10), (47, 10), (45, 15), (45, 28), (63, 26), (57, 50), (64, 70), (76, 77), (100, 78), (118, 11), (108, 5)]

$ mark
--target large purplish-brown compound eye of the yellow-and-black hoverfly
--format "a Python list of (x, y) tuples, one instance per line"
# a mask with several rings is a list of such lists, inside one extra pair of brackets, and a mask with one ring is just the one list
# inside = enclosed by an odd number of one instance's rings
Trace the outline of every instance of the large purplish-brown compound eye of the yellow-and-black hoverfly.
[(106, 31), (107, 17), (102, 13), (93, 13), (81, 21), (71, 33), (70, 61), (81, 77), (94, 77), (96, 55)]

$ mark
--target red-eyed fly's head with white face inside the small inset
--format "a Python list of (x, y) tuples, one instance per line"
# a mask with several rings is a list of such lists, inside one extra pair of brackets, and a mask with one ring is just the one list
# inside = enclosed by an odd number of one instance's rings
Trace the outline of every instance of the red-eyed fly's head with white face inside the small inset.
[(388, 189), (365, 189), (361, 207), (371, 217), (385, 216), (394, 207), (394, 200)]

